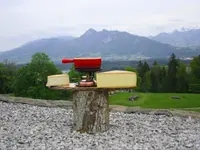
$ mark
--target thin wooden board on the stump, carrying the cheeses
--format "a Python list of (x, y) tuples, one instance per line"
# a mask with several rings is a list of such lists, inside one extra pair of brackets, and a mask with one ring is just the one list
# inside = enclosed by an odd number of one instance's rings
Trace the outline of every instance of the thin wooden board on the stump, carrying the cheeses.
[(108, 88), (98, 88), (98, 87), (77, 87), (75, 83), (70, 83), (69, 86), (53, 86), (50, 89), (53, 90), (72, 90), (72, 91), (102, 91), (102, 90), (117, 90), (117, 89), (132, 89), (135, 87), (108, 87)]

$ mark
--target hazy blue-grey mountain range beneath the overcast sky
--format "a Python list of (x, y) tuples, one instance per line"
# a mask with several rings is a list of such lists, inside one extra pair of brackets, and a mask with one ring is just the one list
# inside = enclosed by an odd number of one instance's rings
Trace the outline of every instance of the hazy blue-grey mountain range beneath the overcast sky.
[[(194, 31), (191, 32), (193, 34)], [(173, 38), (174, 34), (161, 33), (155, 37), (147, 38), (128, 32), (108, 31), (105, 29), (95, 31), (94, 29), (89, 29), (83, 35), (76, 38), (62, 36), (28, 42), (21, 47), (0, 53), (0, 61), (8, 59), (18, 64), (27, 63), (36, 52), (45, 52), (54, 62), (61, 62), (63, 57), (102, 57), (104, 60), (138, 60), (168, 58), (172, 53), (175, 53), (178, 57), (192, 57), (200, 53), (198, 36), (196, 36), (197, 39), (191, 40), (190, 45), (193, 45), (194, 41), (196, 41), (194, 44), (195, 48), (187, 45), (182, 47), (182, 44), (165, 42), (162, 40), (164, 38), (160, 38), (166, 35), (170, 39), (170, 36)], [(179, 35), (181, 36), (182, 34)]]

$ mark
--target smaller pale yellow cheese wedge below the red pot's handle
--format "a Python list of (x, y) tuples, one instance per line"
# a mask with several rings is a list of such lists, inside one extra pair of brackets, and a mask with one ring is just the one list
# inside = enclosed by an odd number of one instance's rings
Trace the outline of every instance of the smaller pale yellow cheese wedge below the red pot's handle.
[(48, 76), (46, 86), (69, 86), (69, 76), (67, 74)]

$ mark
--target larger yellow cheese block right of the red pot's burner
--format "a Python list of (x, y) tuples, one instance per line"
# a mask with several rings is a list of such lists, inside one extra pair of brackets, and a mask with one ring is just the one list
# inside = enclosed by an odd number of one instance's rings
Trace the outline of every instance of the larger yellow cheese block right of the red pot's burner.
[(98, 88), (131, 88), (136, 87), (135, 72), (114, 70), (96, 74)]

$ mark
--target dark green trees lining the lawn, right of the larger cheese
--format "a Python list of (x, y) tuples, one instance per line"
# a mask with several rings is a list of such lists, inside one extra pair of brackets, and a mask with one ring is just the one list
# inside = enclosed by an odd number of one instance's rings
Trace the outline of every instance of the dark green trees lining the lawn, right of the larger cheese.
[(200, 92), (200, 55), (193, 57), (188, 65), (176, 58), (175, 54), (170, 56), (167, 65), (159, 65), (154, 61), (150, 67), (146, 61), (139, 61), (133, 71), (138, 75), (139, 91)]

